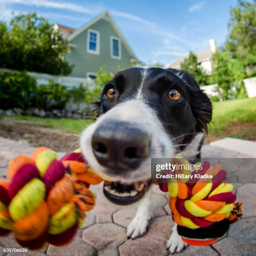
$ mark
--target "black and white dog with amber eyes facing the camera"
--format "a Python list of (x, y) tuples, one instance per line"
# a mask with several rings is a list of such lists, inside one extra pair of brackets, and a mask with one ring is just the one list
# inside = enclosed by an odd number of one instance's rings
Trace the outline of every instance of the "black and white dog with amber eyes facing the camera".
[[(127, 228), (136, 238), (150, 219), (151, 158), (199, 158), (212, 105), (187, 72), (131, 68), (105, 85), (98, 107), (99, 118), (82, 133), (82, 152), (102, 177), (116, 180), (103, 185), (111, 202), (141, 199)], [(176, 225), (166, 245), (171, 253), (184, 248)]]

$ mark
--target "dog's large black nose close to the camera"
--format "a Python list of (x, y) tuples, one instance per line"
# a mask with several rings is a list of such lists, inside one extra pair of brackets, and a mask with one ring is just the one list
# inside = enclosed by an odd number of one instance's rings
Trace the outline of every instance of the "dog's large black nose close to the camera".
[(146, 132), (125, 122), (104, 123), (92, 136), (97, 161), (113, 169), (135, 169), (148, 157), (150, 145)]

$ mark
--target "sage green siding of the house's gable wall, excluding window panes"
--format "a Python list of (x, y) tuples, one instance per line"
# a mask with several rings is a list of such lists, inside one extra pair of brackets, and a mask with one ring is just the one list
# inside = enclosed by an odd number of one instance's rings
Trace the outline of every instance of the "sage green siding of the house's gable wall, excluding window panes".
[[(89, 26), (83, 26), (83, 28), (69, 36), (70, 45), (75, 46), (66, 56), (67, 61), (75, 65), (71, 76), (88, 77), (90, 74), (95, 74), (102, 66), (113, 73), (118, 72), (118, 67), (121, 69), (130, 68), (131, 59), (136, 56), (131, 54), (123, 38), (120, 37), (112, 22), (110, 22), (110, 18), (105, 15), (96, 21), (94, 20), (93, 23), (89, 23)], [(88, 35), (90, 35), (88, 31), (94, 31), (93, 33), (97, 33), (97, 37), (100, 38), (97, 53), (88, 51)], [(118, 58), (113, 56), (113, 50), (111, 49), (113, 38), (117, 41), (120, 39), (118, 41), (120, 57)]]

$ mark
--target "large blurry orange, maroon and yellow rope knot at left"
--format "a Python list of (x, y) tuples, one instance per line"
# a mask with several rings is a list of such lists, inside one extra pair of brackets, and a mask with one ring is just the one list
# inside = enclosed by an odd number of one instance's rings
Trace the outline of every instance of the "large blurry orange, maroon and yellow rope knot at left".
[(85, 212), (95, 205), (88, 187), (102, 181), (87, 170), (81, 152), (57, 160), (56, 152), (40, 147), (32, 158), (15, 157), (8, 166), (9, 181), (0, 181), (0, 235), (12, 231), (30, 249), (72, 241)]

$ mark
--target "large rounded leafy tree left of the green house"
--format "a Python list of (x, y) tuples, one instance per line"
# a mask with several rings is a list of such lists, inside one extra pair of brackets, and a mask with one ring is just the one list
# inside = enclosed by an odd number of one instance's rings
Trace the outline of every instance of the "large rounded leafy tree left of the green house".
[(45, 18), (20, 14), (9, 26), (0, 22), (0, 67), (67, 75), (72, 65), (65, 60), (68, 41)]

